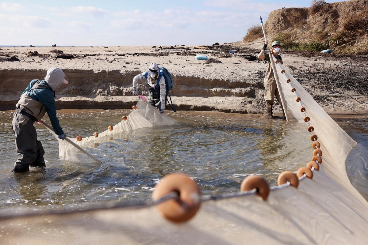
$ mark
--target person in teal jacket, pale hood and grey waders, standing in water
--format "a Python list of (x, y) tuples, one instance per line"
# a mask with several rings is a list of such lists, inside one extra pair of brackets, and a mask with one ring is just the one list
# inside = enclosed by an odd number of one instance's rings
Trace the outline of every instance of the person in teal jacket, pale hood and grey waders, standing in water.
[(19, 158), (14, 163), (13, 172), (29, 171), (29, 167), (46, 167), (43, 159), (41, 141), (37, 140), (36, 128), (33, 124), (46, 114), (49, 116), (55, 133), (61, 140), (66, 134), (59, 125), (56, 117), (55, 90), (63, 83), (65, 74), (60, 68), (47, 70), (45, 80), (32, 80), (24, 90), (16, 105), (13, 116), (12, 129), (15, 134), (15, 147)]

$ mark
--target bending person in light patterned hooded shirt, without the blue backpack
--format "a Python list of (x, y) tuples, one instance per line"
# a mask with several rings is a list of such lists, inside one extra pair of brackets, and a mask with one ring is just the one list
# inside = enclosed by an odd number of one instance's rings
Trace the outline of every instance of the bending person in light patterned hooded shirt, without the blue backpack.
[[(165, 78), (158, 72), (159, 66), (156, 63), (151, 63), (148, 69), (148, 71), (138, 74), (133, 78), (133, 95), (138, 95), (138, 80), (147, 79), (147, 83), (149, 85), (149, 97), (147, 98), (147, 101), (153, 107), (158, 108), (161, 113), (164, 113), (166, 105)], [(148, 76), (145, 76), (146, 72), (148, 72)]]

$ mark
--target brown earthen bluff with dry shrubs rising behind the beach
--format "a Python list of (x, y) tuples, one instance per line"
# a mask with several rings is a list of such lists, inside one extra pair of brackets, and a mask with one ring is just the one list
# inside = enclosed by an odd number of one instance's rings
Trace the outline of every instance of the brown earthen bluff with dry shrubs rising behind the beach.
[[(365, 54), (368, 4), (358, 0), (331, 4), (313, 0), (309, 8), (275, 10), (268, 25), (271, 26), (268, 32), (276, 30), (269, 36), (279, 40), (286, 49), (321, 51), (330, 48), (337, 53)], [(252, 26), (244, 42), (261, 36), (261, 26)]]

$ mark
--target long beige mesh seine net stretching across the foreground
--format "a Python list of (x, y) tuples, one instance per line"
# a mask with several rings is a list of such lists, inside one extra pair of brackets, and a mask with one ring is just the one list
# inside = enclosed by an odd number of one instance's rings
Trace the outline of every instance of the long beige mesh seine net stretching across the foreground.
[[(202, 197), (198, 213), (181, 224), (167, 221), (155, 206), (147, 204), (3, 217), (1, 234), (6, 235), (0, 238), (2, 244), (366, 244), (368, 203), (346, 173), (346, 157), (355, 141), (282, 65), (275, 65), (289, 120), (304, 122), (309, 116), (307, 123), (321, 143), (323, 162), (313, 171), (312, 179), (300, 178), (298, 188), (271, 188), (266, 201), (239, 192), (233, 197)], [(142, 111), (137, 108), (130, 120), (121, 122), (127, 123), (121, 126), (124, 130), (133, 127), (129, 121), (142, 119), (141, 126), (166, 119), (174, 123), (166, 117), (147, 119), (152, 117), (146, 114), (149, 107), (139, 102), (137, 107)], [(155, 111), (148, 109), (148, 114), (155, 118)], [(309, 161), (305, 159), (305, 163)]]

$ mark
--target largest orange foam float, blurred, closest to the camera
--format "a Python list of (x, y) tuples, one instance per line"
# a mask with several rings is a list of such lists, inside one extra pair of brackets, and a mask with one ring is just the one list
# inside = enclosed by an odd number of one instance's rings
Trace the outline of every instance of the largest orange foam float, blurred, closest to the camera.
[(181, 223), (190, 220), (201, 206), (201, 191), (198, 184), (188, 175), (171, 173), (155, 185), (153, 201), (157, 201), (170, 192), (178, 192), (178, 199), (169, 199), (156, 205), (158, 211), (171, 222)]

